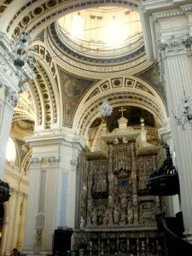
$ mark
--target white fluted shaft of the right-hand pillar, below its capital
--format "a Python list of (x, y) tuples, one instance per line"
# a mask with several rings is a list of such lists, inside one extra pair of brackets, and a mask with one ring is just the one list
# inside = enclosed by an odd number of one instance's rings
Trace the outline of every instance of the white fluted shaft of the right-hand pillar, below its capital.
[(180, 117), (183, 111), (183, 91), (192, 96), (192, 75), (187, 53), (168, 55), (165, 65), (166, 97), (172, 127), (172, 139), (175, 145), (177, 171), (179, 175), (181, 207), (185, 235), (192, 236), (192, 131), (187, 123), (183, 130), (177, 125), (175, 115)]

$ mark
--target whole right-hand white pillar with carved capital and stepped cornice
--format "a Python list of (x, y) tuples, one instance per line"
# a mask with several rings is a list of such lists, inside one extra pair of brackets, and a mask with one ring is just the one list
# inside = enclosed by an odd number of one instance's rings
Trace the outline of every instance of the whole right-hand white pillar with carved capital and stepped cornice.
[(183, 1), (143, 1), (141, 15), (148, 59), (159, 62), (160, 80), (166, 89), (184, 235), (192, 241), (192, 131), (188, 123), (182, 131), (175, 118), (183, 114), (184, 94), (192, 96), (192, 3), (182, 4)]

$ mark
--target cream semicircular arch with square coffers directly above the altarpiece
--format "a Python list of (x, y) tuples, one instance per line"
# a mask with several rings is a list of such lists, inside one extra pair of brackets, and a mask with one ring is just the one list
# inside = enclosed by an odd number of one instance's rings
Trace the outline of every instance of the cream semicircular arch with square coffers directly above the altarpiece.
[(137, 77), (118, 77), (98, 82), (82, 99), (73, 119), (73, 128), (80, 136), (84, 137), (93, 120), (101, 117), (98, 110), (103, 99), (113, 108), (134, 106), (148, 110), (154, 115), (158, 128), (166, 122), (166, 104), (157, 90)]

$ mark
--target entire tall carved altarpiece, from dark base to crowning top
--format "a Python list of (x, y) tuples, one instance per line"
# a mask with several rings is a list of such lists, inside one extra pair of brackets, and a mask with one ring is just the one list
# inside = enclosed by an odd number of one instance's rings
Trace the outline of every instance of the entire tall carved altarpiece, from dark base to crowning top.
[(127, 128), (103, 132), (105, 150), (82, 155), (81, 218), (73, 249), (86, 244), (84, 250), (93, 255), (129, 255), (142, 248), (154, 250), (143, 255), (157, 253), (160, 200), (149, 195), (147, 181), (158, 169), (160, 148), (147, 143), (143, 127), (137, 132)]

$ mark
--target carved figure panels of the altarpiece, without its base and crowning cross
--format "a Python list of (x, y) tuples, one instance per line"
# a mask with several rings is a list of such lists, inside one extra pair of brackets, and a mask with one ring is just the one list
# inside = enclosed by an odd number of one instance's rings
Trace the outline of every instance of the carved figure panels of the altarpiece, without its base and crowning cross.
[(135, 143), (110, 144), (107, 160), (84, 164), (87, 188), (82, 189), (81, 212), (85, 227), (155, 225), (158, 202), (147, 190), (155, 168), (156, 156), (136, 156)]

